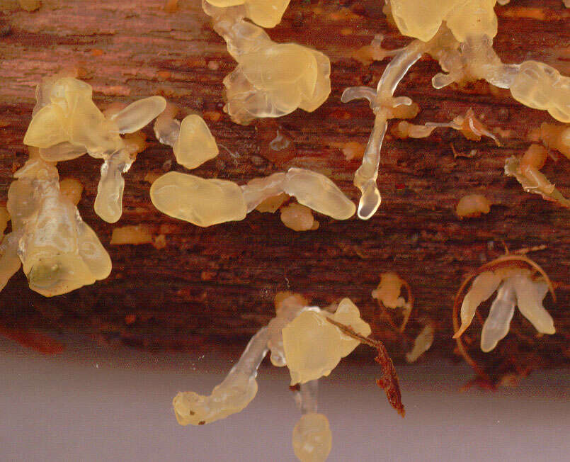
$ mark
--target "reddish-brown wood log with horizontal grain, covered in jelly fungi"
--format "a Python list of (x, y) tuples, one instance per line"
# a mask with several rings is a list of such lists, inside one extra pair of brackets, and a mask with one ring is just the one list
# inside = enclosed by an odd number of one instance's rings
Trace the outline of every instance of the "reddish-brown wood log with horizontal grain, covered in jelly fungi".
[[(387, 48), (409, 43), (387, 23), (383, 3), (293, 0), (283, 22), (268, 33), (278, 42), (295, 41), (329, 55), (331, 96), (314, 113), (296, 111), (244, 127), (222, 112), (222, 79), (235, 63), (200, 1), (180, 0), (174, 13), (164, 11), (166, 0), (43, 0), (33, 13), (19, 9), (16, 1), (2, 2), (0, 202), (6, 201), (11, 174), (26, 159), (22, 140), (35, 84), (72, 65), (93, 86), (100, 107), (162, 94), (186, 113), (202, 114), (225, 149), (195, 174), (244, 184), (254, 176), (305, 167), (330, 176), (358, 200), (352, 185), (358, 161), (346, 161), (338, 146), (364, 144), (372, 113), (363, 101), (341, 103), (340, 95), (347, 86), (375, 85), (380, 78), (387, 60), (365, 66), (351, 58), (375, 34), (386, 35)], [(520, 0), (496, 11), (495, 48), (503, 61), (535, 59), (570, 74), (569, 10), (561, 0)], [(453, 130), (436, 130), (424, 140), (387, 137), (378, 179), (382, 205), (368, 221), (319, 216), (319, 230), (293, 232), (278, 213), (253, 212), (241, 222), (206, 229), (173, 220), (153, 207), (144, 177), (183, 167), (171, 165), (171, 149), (159, 145), (147, 128), (149, 148), (125, 175), (124, 213), (110, 225), (93, 213), (100, 161), (84, 156), (62, 162), (60, 176), (73, 176), (85, 186), (79, 210), (108, 248), (113, 272), (106, 281), (55, 298), (30, 291), (19, 272), (0, 293), (5, 331), (56, 329), (139, 347), (226, 347), (243, 343), (265, 324), (274, 313), (275, 293), (290, 290), (318, 305), (352, 298), (396, 358), (409, 349), (422, 323), (431, 320), (437, 329), (433, 354), (453, 356), (455, 291), (464, 276), (500, 256), (505, 242), (512, 250), (545, 246), (531, 256), (557, 286), (557, 302), (548, 298), (547, 306), (558, 333), (539, 338), (516, 314), (516, 334), (493, 354), (477, 356), (479, 361), (518, 371), (567, 361), (569, 211), (523, 192), (503, 175), (506, 157), (521, 154), (529, 145), (528, 132), (552, 119), (484, 83), (436, 91), (431, 77), (438, 71), (438, 64), (424, 57), (397, 91), (421, 106), (418, 123), (448, 121), (472, 107), (491, 129), (503, 130), (503, 146), (488, 139), (468, 141)], [(276, 130), (290, 137), (294, 157), (270, 149)], [(454, 151), (474, 155), (456, 157)], [(569, 161), (559, 157), (543, 171), (570, 196)], [(455, 205), (467, 193), (489, 198), (491, 213), (459, 220)], [(113, 227), (137, 224), (164, 234), (166, 247), (108, 245)], [(380, 320), (370, 296), (383, 271), (397, 271), (414, 292), (416, 304), (405, 337)], [(480, 325), (468, 334), (475, 339), (477, 332)]]

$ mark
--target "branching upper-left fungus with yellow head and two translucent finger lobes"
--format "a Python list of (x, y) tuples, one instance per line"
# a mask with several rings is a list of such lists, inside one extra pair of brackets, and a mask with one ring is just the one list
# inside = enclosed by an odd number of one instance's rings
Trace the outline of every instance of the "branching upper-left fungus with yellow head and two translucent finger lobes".
[(48, 77), (36, 89), (37, 103), (24, 144), (40, 148), (48, 162), (74, 159), (86, 152), (103, 159), (96, 213), (116, 222), (122, 213), (125, 173), (135, 160), (137, 143), (120, 137), (135, 133), (156, 118), (164, 108), (162, 96), (144, 98), (120, 111), (103, 114), (92, 100), (89, 84), (74, 77)]

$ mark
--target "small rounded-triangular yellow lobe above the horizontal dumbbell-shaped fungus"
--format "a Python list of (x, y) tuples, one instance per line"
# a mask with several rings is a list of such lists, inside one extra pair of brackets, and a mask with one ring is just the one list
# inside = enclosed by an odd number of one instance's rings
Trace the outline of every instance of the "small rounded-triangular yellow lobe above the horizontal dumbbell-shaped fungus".
[(200, 167), (218, 154), (216, 140), (200, 116), (186, 116), (180, 125), (178, 139), (173, 145), (176, 162), (187, 169)]

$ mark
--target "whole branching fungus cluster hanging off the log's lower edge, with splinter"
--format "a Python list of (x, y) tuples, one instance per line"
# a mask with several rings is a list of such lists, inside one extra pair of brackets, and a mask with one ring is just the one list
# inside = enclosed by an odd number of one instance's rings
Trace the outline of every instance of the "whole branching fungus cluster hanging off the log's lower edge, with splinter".
[[(302, 417), (292, 433), (295, 456), (303, 462), (325, 461), (332, 434), (326, 416), (317, 413), (319, 378), (328, 376), (360, 342), (372, 342), (366, 339), (370, 332), (370, 325), (360, 318), (360, 311), (349, 298), (329, 312), (309, 306), (302, 295), (278, 293), (275, 317), (253, 335), (224, 381), (207, 396), (183, 392), (174, 397), (176, 419), (181, 425), (203, 425), (244, 410), (255, 398), (257, 369), (269, 352), (274, 366), (289, 368), (291, 385), (296, 387), (295, 401)], [(390, 402), (403, 415), (394, 366), (389, 358), (382, 366), (390, 372), (381, 386), (387, 388), (387, 394), (390, 390), (397, 396)]]

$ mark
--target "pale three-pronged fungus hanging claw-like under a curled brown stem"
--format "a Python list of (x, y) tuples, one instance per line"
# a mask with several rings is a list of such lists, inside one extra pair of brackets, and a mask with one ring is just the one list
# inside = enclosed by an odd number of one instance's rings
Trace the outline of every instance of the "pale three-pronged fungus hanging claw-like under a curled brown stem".
[(481, 350), (488, 352), (496, 347), (499, 340), (508, 333), (511, 319), (518, 305), (520, 313), (526, 317), (538, 332), (554, 334), (554, 321), (542, 306), (542, 299), (548, 285), (542, 279), (534, 279), (530, 271), (520, 268), (485, 271), (472, 282), (461, 306), (461, 327), (454, 337), (459, 337), (471, 324), (475, 310), (495, 291), (496, 298), (491, 304), (489, 317), (481, 331)]

